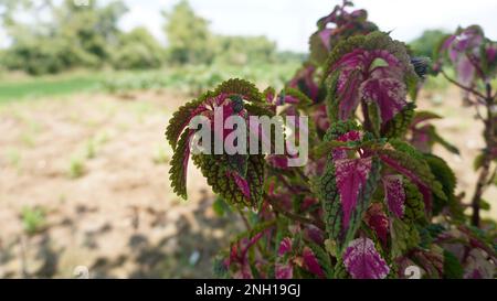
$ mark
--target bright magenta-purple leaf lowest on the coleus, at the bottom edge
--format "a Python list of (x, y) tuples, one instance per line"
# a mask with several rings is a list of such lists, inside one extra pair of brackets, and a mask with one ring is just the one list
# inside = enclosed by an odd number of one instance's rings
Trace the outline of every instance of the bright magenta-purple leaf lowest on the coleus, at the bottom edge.
[(390, 267), (368, 237), (349, 243), (343, 254), (343, 265), (355, 279), (384, 279), (390, 272)]

